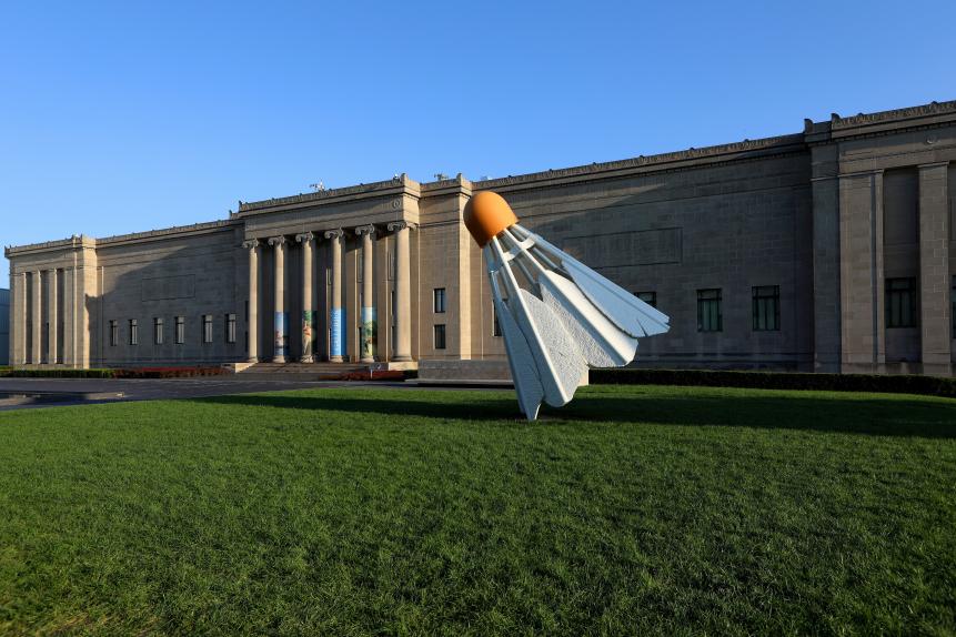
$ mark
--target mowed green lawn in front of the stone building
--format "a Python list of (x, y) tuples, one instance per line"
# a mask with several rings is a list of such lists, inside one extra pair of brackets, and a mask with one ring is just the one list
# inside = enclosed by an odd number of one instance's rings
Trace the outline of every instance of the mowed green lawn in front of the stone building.
[(952, 634), (956, 401), (329, 390), (0, 414), (0, 634)]

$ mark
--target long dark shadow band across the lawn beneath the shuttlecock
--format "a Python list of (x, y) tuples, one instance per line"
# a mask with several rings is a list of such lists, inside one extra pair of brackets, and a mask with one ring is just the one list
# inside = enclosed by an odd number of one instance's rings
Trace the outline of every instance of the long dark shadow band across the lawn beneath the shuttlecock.
[[(193, 398), (202, 403), (285, 410), (333, 411), (354, 414), (417, 416), (519, 425), (524, 419), (514, 400), (474, 392), (469, 403), (389, 396), (290, 396), (240, 394)], [(621, 425), (737, 426), (924, 438), (956, 438), (953, 404), (909, 400), (815, 396), (657, 396), (581, 395), (561, 410), (542, 407), (534, 426), (574, 422)]]

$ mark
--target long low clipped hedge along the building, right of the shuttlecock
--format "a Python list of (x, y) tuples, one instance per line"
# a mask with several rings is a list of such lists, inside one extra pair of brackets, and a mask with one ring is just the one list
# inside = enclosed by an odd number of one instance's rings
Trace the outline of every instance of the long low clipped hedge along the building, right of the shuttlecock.
[(690, 385), (924, 394), (956, 398), (956, 378), (889, 374), (807, 374), (708, 370), (592, 370), (594, 385)]

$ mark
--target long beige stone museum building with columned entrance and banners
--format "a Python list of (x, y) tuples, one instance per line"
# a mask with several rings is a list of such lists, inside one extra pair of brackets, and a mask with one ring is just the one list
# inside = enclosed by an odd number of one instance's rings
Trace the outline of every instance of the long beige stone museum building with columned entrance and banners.
[(953, 374), (956, 101), (502, 179), (401, 175), (241, 202), (209, 223), (8, 247), (10, 361), (502, 361), (462, 223), (482, 190), (671, 316), (637, 365)]

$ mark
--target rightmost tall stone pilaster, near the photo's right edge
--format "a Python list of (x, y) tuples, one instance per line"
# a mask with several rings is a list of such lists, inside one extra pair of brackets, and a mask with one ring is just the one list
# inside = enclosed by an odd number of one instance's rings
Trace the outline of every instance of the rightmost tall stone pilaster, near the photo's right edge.
[(919, 166), (919, 328), (923, 373), (948, 376), (950, 279), (948, 164)]

